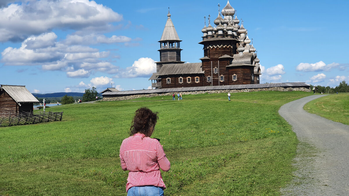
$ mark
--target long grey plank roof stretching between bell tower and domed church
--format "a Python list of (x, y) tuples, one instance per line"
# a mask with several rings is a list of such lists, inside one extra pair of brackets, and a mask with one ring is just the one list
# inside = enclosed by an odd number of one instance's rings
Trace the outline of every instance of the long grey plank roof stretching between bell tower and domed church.
[(161, 67), (156, 76), (175, 74), (203, 74), (201, 63), (179, 63), (165, 64)]

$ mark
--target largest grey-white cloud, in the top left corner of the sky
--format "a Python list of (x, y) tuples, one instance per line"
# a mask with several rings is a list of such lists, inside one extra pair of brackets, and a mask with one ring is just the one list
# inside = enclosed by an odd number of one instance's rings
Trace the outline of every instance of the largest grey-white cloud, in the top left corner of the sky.
[[(5, 0), (0, 6), (14, 2)], [(41, 0), (0, 8), (0, 42), (24, 40), (51, 29), (108, 30), (122, 15), (88, 0)]]

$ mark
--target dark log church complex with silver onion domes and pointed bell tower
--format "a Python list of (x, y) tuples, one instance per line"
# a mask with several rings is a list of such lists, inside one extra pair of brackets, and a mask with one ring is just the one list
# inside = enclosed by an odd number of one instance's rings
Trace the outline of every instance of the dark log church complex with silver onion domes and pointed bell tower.
[(199, 63), (181, 61), (181, 40), (170, 12), (167, 17), (159, 41), (160, 61), (156, 62), (156, 73), (149, 78), (153, 88), (259, 84), (261, 70), (256, 49), (250, 45), (247, 30), (243, 23), (239, 25), (229, 0), (222, 12), (218, 11), (214, 27), (210, 17), (207, 27), (205, 21), (199, 43), (203, 45), (203, 57)]

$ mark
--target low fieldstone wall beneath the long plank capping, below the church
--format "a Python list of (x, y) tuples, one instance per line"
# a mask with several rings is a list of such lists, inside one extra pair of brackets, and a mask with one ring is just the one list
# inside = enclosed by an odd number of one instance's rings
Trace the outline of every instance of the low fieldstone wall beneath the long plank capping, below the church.
[[(272, 88), (262, 88), (262, 89), (241, 89), (241, 90), (208, 90), (208, 91), (189, 91), (189, 92), (181, 92), (182, 95), (195, 95), (195, 94), (202, 94), (202, 93), (235, 93), (235, 92), (257, 92), (257, 91), (304, 91), (304, 92), (310, 92), (310, 89), (307, 88), (283, 88), (283, 87), (272, 87)], [(119, 100), (131, 100), (136, 99), (140, 97), (156, 97), (156, 96), (172, 96), (172, 94), (176, 94), (177, 98), (177, 92), (168, 92), (168, 93), (152, 93), (152, 94), (145, 94), (145, 95), (129, 95), (124, 97), (103, 97), (102, 101), (119, 101)]]

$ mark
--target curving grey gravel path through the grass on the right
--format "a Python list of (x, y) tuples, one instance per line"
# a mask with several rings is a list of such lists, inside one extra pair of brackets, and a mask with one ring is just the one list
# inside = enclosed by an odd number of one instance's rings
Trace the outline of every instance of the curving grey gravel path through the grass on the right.
[(291, 101), (279, 110), (300, 142), (295, 178), (281, 190), (284, 195), (349, 195), (349, 126), (303, 110), (322, 96)]

